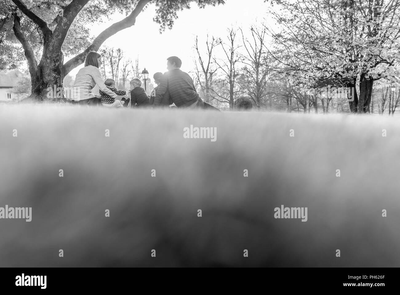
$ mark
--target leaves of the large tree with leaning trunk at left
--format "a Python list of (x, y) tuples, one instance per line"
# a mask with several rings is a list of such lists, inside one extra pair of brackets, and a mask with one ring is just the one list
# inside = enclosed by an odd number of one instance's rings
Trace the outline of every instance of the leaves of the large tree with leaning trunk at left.
[[(46, 21), (50, 29), (54, 30), (58, 17), (62, 16), (63, 9), (71, 0), (23, 0), (23, 3), (37, 16)], [(62, 51), (64, 55), (76, 55), (86, 48), (93, 36), (90, 36), (88, 24), (100, 23), (110, 20), (114, 12), (130, 14), (139, 0), (91, 0), (84, 6), (70, 27)], [(166, 28), (171, 29), (174, 20), (178, 18), (177, 12), (190, 9), (190, 3), (194, 2), (200, 8), (206, 5), (224, 4), (223, 0), (156, 0), (153, 20), (160, 24), (160, 32)], [(147, 7), (147, 6), (146, 6)], [(14, 13), (21, 17), (21, 30), (28, 38), (37, 59), (40, 60), (43, 50), (42, 32), (34, 22), (21, 13), (10, 0), (0, 0), (0, 68), (11, 67), (16, 61), (23, 60), (23, 51), (15, 38), (12, 25)], [(14, 62), (13, 62), (14, 61)]]

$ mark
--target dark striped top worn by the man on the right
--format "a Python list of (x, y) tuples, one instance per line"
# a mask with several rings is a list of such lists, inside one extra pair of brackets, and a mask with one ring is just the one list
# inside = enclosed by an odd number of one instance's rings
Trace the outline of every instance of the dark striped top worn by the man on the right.
[(192, 77), (180, 69), (164, 73), (161, 83), (158, 85), (153, 106), (160, 105), (164, 93), (167, 91), (177, 107), (187, 107), (199, 100)]

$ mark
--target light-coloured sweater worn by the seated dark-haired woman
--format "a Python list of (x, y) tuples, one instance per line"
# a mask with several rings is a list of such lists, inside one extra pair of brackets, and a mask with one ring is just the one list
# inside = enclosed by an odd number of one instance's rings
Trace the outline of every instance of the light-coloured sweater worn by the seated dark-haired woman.
[(76, 91), (74, 91), (72, 99), (83, 100), (95, 97), (96, 95), (92, 93), (92, 89), (95, 85), (110, 97), (117, 97), (117, 95), (104, 84), (100, 70), (94, 66), (88, 65), (80, 69), (76, 74), (74, 83), (74, 89), (76, 89)]

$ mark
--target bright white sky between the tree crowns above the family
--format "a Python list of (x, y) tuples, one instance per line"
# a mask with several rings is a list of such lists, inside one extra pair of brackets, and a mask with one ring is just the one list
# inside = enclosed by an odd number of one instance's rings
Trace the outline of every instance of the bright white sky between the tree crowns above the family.
[[(181, 69), (190, 72), (194, 69), (193, 46), (196, 35), (199, 38), (200, 50), (205, 50), (207, 33), (216, 38), (223, 38), (232, 24), (247, 30), (256, 20), (262, 21), (269, 9), (270, 5), (264, 3), (264, 0), (226, 0), (225, 5), (207, 6), (205, 9), (200, 9), (193, 3), (190, 10), (178, 12), (178, 19), (175, 20), (172, 30), (167, 29), (160, 34), (159, 25), (152, 20), (155, 5), (151, 4), (144, 12), (140, 12), (134, 26), (111, 36), (103, 45), (120, 47), (126, 53), (126, 57), (133, 61), (139, 55), (140, 70), (146, 67), (151, 78), (156, 72), (166, 71), (166, 59), (173, 55), (182, 60)], [(114, 14), (110, 22), (96, 24), (91, 28), (91, 32), (97, 36), (112, 23), (123, 18), (123, 14)], [(216, 54), (220, 53), (216, 51)], [(65, 59), (67, 60), (68, 58)], [(70, 75), (75, 76), (81, 67), (83, 65), (72, 70)]]

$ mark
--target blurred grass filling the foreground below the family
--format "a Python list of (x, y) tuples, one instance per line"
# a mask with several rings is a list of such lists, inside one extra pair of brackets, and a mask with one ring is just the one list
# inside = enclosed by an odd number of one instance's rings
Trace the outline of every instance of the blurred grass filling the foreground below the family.
[(400, 266), (394, 118), (10, 105), (0, 138), (2, 267)]

